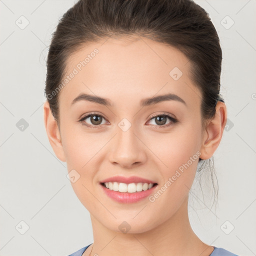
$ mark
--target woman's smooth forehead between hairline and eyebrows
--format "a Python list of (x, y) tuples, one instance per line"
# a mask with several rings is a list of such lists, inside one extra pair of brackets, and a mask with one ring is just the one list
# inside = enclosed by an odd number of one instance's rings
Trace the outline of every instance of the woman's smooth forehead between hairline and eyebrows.
[(145, 37), (108, 37), (81, 45), (69, 56), (65, 76), (72, 78), (61, 89), (59, 100), (71, 104), (86, 92), (113, 98), (113, 105), (135, 104), (141, 98), (171, 92), (188, 104), (198, 103), (200, 91), (189, 71), (190, 61), (173, 46)]

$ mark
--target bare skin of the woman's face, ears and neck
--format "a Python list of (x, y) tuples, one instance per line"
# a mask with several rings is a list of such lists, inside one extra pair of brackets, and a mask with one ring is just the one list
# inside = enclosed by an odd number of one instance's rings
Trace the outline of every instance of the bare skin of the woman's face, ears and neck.
[[(161, 187), (197, 151), (201, 159), (210, 158), (226, 123), (225, 104), (217, 102), (215, 116), (203, 129), (201, 92), (190, 79), (190, 61), (178, 49), (144, 37), (110, 37), (83, 45), (67, 59), (66, 75), (94, 48), (99, 50), (96, 56), (59, 92), (59, 129), (48, 102), (43, 106), (45, 129), (56, 156), (66, 161), (68, 171), (75, 169), (80, 175), (71, 185), (90, 212), (91, 255), (209, 255), (213, 247), (193, 232), (187, 212), (199, 157), (154, 202), (148, 198), (127, 204), (113, 201), (99, 182), (117, 174), (136, 175)], [(169, 75), (173, 67), (183, 73), (176, 81)], [(112, 106), (85, 100), (71, 106), (81, 92), (106, 98)], [(144, 98), (165, 93), (178, 95), (186, 105), (176, 100), (139, 105)], [(78, 121), (92, 111), (106, 117), (101, 127), (88, 128)], [(178, 122), (167, 117), (161, 126), (151, 118), (163, 112)], [(118, 126), (122, 118), (131, 124), (127, 131)], [(83, 122), (97, 125), (90, 118)], [(123, 221), (130, 225), (127, 233), (118, 228)]]

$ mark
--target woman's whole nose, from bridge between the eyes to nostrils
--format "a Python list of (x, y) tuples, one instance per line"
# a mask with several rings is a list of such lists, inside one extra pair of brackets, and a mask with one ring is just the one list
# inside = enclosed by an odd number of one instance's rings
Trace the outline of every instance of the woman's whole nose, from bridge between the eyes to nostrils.
[(142, 143), (136, 135), (138, 132), (134, 130), (134, 127), (135, 125), (131, 125), (123, 118), (116, 127), (113, 149), (111, 150), (111, 161), (127, 168), (130, 168), (134, 163), (143, 162), (146, 158)]

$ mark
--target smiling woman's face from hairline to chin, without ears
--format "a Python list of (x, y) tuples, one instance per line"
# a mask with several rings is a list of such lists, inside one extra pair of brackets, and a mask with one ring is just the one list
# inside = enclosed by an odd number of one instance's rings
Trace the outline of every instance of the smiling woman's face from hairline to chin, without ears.
[[(126, 221), (130, 232), (150, 230), (187, 197), (203, 134), (201, 92), (189, 68), (178, 49), (135, 37), (86, 44), (68, 58), (65, 75), (74, 75), (59, 92), (63, 153), (68, 172), (79, 177), (71, 182), (74, 192), (106, 228), (120, 231)], [(101, 184), (116, 176), (157, 185), (139, 200), (141, 192), (118, 201)]]

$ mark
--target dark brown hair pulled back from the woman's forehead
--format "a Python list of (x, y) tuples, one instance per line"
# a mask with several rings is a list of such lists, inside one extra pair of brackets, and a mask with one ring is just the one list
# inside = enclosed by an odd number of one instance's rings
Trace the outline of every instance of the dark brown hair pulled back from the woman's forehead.
[[(67, 58), (86, 42), (139, 35), (175, 46), (191, 62), (191, 80), (202, 92), (202, 124), (215, 114), (222, 51), (208, 13), (192, 0), (79, 0), (59, 20), (47, 56), (45, 96), (59, 124), (58, 94)], [(50, 97), (48, 96), (50, 95)], [(201, 159), (200, 159), (201, 160)]]

